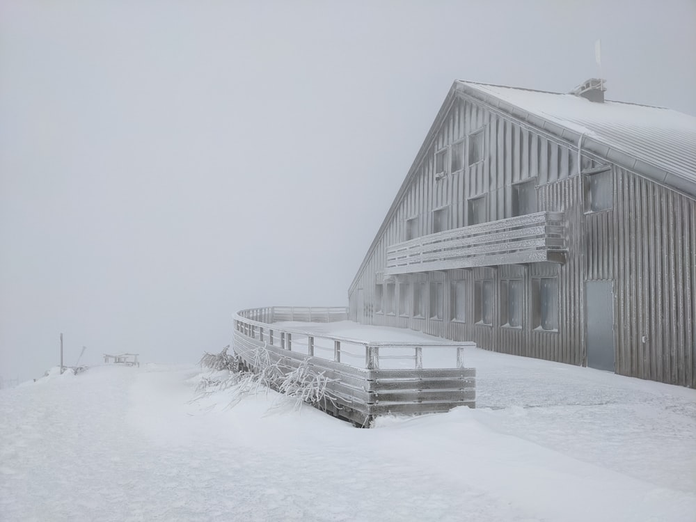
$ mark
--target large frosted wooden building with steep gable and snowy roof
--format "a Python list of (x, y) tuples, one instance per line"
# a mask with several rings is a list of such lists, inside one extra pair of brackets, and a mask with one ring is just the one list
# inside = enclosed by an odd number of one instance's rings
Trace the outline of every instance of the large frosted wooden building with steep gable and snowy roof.
[(351, 319), (696, 387), (696, 118), (455, 81)]

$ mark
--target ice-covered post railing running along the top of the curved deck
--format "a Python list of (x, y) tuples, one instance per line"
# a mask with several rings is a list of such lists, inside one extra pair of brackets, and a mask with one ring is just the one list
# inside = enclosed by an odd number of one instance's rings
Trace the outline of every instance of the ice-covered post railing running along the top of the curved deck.
[(251, 308), (235, 315), (235, 330), (273, 347), (367, 370), (461, 368), (464, 367), (464, 348), (475, 347), (473, 342), (377, 342), (274, 324), (338, 322), (347, 317), (348, 310), (342, 307)]

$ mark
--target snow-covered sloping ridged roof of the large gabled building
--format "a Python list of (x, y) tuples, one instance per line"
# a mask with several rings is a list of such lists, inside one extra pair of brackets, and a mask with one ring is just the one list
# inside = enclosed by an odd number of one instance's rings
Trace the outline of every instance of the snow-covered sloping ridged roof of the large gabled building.
[[(457, 81), (468, 95), (535, 126), (585, 136), (589, 149), (696, 197), (696, 118), (672, 109)], [(539, 118), (543, 121), (539, 121)], [(571, 139), (566, 133), (564, 137)], [(645, 167), (651, 168), (645, 168)], [(641, 168), (643, 167), (643, 168)]]

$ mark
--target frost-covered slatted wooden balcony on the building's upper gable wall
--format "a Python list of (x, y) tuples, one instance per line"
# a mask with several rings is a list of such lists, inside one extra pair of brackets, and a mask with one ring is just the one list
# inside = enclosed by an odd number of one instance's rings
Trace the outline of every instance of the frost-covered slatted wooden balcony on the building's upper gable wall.
[(386, 275), (565, 261), (562, 212), (536, 212), (388, 246)]

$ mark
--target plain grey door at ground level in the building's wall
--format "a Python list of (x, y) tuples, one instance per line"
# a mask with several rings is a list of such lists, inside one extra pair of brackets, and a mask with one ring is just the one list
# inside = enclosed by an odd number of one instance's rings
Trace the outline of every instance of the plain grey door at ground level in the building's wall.
[(585, 283), (585, 324), (587, 326), (587, 366), (597, 370), (614, 369), (614, 282)]

